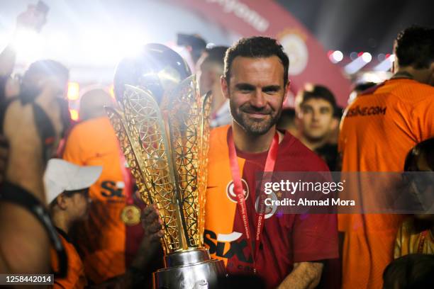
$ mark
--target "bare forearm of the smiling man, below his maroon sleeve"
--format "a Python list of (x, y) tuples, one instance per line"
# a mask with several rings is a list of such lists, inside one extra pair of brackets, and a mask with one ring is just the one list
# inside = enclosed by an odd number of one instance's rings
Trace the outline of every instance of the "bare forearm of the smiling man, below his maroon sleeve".
[(323, 271), (323, 263), (294, 263), (294, 269), (286, 276), (278, 289), (311, 289), (318, 286)]

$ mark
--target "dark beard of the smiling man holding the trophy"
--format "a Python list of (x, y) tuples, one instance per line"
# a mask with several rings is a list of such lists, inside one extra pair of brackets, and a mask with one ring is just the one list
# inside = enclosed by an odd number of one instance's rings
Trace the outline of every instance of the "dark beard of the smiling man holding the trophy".
[[(269, 118), (266, 120), (252, 120), (247, 116), (247, 113), (257, 112), (257, 113), (265, 113), (264, 110), (254, 108), (252, 106), (241, 106), (240, 113), (237, 113), (237, 109), (233, 106), (232, 101), (229, 101), (230, 104), (230, 114), (232, 115), (233, 120), (235, 120), (238, 125), (241, 126), (246, 132), (249, 132), (251, 135), (265, 135), (272, 127), (277, 123), (282, 113), (282, 107), (274, 113), (274, 111), (267, 111), (267, 115)], [(274, 115), (273, 115), (274, 113)]]

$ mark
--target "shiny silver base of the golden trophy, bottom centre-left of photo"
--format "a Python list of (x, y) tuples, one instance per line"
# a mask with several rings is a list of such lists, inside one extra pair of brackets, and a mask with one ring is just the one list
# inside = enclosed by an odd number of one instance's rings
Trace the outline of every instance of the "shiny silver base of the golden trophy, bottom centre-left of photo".
[(155, 289), (216, 288), (226, 274), (223, 261), (211, 259), (208, 249), (175, 252), (165, 256), (167, 268), (153, 273)]

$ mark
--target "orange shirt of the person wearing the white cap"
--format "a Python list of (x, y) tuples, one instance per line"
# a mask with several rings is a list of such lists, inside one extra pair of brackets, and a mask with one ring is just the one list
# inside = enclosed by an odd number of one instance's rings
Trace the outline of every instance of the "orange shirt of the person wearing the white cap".
[[(84, 275), (82, 259), (80, 259), (74, 245), (69, 242), (67, 234), (60, 229), (57, 229), (57, 231), (59, 232), (60, 241), (67, 254), (68, 271), (65, 278), (55, 278), (53, 288), (82, 289), (87, 286), (87, 278)], [(59, 264), (57, 263), (57, 256), (54, 249), (51, 251), (51, 263), (55, 271), (59, 270)]]

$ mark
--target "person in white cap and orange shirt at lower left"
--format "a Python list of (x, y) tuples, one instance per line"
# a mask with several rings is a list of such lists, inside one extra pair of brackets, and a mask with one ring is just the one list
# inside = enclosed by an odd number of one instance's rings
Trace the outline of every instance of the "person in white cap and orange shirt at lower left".
[[(54, 288), (84, 288), (87, 278), (77, 250), (68, 237), (74, 222), (87, 217), (89, 186), (101, 175), (102, 166), (76, 166), (62, 159), (50, 159), (44, 183), (50, 216), (67, 254), (67, 275), (54, 280)], [(52, 266), (57, 271), (58, 261), (52, 252)]]

